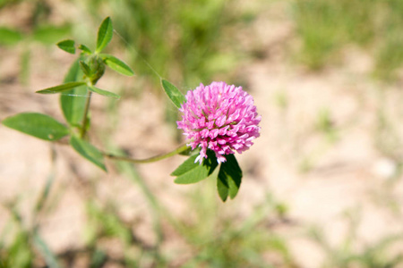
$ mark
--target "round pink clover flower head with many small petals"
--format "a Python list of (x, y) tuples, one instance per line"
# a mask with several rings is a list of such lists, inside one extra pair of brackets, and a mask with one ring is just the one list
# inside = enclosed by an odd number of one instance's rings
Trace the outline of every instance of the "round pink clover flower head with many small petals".
[(260, 136), (258, 126), (262, 117), (256, 113), (253, 97), (242, 87), (212, 82), (200, 84), (186, 94), (186, 102), (179, 109), (182, 121), (178, 129), (184, 130), (191, 140), (192, 149), (201, 147), (196, 161), (207, 158), (207, 149), (212, 150), (219, 163), (226, 162), (224, 155), (241, 154), (253, 145)]

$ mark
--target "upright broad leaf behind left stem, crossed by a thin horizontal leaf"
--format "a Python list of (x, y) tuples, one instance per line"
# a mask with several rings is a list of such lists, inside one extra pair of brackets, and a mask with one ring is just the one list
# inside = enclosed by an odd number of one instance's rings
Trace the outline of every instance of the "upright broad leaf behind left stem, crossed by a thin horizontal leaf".
[[(82, 79), (83, 73), (79, 65), (80, 58), (73, 64), (64, 78), (64, 83), (75, 82)], [(84, 116), (87, 87), (81, 86), (65, 91), (60, 95), (60, 105), (62, 106), (64, 118), (72, 126), (81, 126)]]

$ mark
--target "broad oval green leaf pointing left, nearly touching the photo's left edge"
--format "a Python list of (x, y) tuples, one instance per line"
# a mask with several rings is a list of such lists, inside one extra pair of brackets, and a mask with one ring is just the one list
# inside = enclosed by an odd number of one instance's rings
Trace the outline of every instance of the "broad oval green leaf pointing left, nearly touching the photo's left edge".
[(57, 140), (69, 134), (64, 124), (42, 113), (18, 113), (2, 123), (13, 130), (45, 140)]

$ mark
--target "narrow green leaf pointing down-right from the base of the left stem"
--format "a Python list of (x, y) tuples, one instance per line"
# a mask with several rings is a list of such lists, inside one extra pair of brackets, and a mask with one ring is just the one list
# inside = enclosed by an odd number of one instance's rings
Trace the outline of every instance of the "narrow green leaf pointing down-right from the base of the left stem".
[(102, 170), (107, 171), (107, 167), (105, 166), (105, 163), (104, 163), (104, 156), (99, 151), (99, 149), (97, 149), (96, 147), (94, 147), (93, 145), (88, 143), (87, 141), (82, 140), (81, 138), (77, 138), (75, 136), (72, 136), (72, 138), (70, 138), (70, 145), (81, 156), (83, 156), (90, 162), (95, 163)]

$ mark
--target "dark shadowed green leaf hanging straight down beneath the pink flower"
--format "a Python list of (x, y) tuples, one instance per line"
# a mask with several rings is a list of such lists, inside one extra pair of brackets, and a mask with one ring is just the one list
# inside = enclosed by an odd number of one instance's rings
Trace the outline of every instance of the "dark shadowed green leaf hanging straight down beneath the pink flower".
[(236, 197), (242, 181), (242, 170), (236, 162), (234, 155), (226, 155), (227, 162), (221, 163), (217, 188), (219, 197), (226, 201), (227, 196), (233, 199)]

